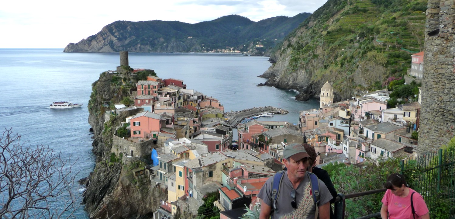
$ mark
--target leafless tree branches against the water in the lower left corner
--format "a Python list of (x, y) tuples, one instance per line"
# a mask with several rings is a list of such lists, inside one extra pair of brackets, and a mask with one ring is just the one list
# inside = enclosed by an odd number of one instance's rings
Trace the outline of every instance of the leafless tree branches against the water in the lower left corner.
[(76, 161), (25, 143), (11, 129), (0, 138), (0, 218), (76, 218), (79, 195), (71, 190)]

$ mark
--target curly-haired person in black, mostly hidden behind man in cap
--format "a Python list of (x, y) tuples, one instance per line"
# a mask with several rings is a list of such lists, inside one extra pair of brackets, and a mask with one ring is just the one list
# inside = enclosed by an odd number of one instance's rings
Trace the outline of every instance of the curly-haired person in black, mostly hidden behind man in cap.
[[(327, 173), (327, 171), (325, 171), (324, 169), (316, 167), (317, 154), (316, 154), (316, 151), (314, 150), (314, 148), (307, 143), (304, 143), (303, 147), (305, 148), (305, 151), (307, 151), (308, 155), (310, 155), (311, 159), (313, 160), (313, 165), (309, 167), (308, 171), (314, 173), (321, 181), (324, 182), (324, 184), (329, 189), (330, 194), (332, 195), (332, 197), (334, 197), (332, 200), (329, 201), (329, 203), (334, 204), (335, 199), (337, 198), (337, 191), (335, 190), (332, 180), (330, 180), (329, 173)], [(335, 219), (334, 212), (332, 211), (332, 205), (330, 205), (330, 219)]]

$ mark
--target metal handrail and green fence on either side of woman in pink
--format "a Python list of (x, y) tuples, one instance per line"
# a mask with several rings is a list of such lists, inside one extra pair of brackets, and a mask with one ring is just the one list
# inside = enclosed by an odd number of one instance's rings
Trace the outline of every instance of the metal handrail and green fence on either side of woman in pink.
[[(430, 210), (430, 218), (455, 219), (455, 150), (439, 149), (416, 158), (401, 160), (401, 172), (410, 188), (422, 195)], [(385, 188), (338, 194), (335, 201), (335, 218), (344, 219), (345, 200), (384, 192)], [(380, 218), (380, 214), (365, 215), (358, 219)]]

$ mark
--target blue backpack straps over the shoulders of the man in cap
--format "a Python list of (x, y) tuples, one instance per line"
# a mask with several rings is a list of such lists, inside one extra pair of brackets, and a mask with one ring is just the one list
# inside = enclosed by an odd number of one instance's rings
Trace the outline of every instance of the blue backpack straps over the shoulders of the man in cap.
[[(275, 173), (273, 175), (272, 179), (272, 214), (273, 212), (278, 213), (278, 208), (277, 208), (277, 200), (278, 200), (278, 194), (279, 194), (279, 188), (281, 187), (281, 181), (283, 180), (285, 171), (282, 170), (278, 173)], [(319, 203), (319, 181), (318, 177), (314, 175), (314, 173), (307, 172), (308, 176), (310, 178), (310, 185), (311, 185), (311, 193), (313, 194), (313, 201), (314, 201), (314, 206), (316, 209), (316, 214), (314, 215), (315, 218), (318, 217), (318, 203)], [(272, 215), (270, 214), (270, 215)]]

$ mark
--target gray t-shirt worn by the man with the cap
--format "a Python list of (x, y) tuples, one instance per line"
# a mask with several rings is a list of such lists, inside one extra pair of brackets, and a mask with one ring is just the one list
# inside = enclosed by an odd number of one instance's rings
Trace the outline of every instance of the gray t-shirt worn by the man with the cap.
[[(297, 209), (294, 209), (291, 205), (291, 191), (293, 186), (288, 178), (287, 171), (284, 172), (283, 181), (281, 187), (278, 190), (277, 208), (278, 212), (274, 212), (272, 219), (314, 219), (315, 206), (313, 195), (311, 194), (311, 183), (309, 181), (309, 173), (306, 173), (303, 181), (298, 185), (296, 189), (295, 200), (297, 201)], [(262, 199), (268, 206), (272, 205), (272, 180), (270, 177), (261, 188), (258, 194), (258, 198)], [(327, 189), (327, 186), (320, 180), (319, 181), (319, 206), (324, 205), (332, 199), (332, 195)]]

